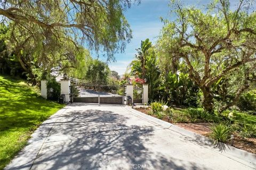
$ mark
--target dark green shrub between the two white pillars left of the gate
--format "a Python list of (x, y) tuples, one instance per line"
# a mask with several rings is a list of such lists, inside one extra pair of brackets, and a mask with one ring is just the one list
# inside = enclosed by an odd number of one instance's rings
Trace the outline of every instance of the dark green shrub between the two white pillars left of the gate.
[(47, 80), (47, 99), (57, 101), (60, 97), (60, 83), (56, 81), (55, 77)]

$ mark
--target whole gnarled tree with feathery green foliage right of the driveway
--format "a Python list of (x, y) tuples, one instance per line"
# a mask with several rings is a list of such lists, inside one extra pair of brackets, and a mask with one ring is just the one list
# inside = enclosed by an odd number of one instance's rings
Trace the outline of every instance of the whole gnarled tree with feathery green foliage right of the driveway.
[(220, 0), (201, 10), (173, 1), (172, 10), (177, 18), (163, 20), (158, 53), (169, 58), (172, 65), (184, 61), (190, 79), (203, 92), (207, 111), (213, 111), (214, 83), (225, 79), (230, 81), (229, 89), (236, 91), (223, 104), (223, 111), (256, 81), (256, 12), (251, 5), (251, 1), (239, 1), (232, 11), (228, 0)]

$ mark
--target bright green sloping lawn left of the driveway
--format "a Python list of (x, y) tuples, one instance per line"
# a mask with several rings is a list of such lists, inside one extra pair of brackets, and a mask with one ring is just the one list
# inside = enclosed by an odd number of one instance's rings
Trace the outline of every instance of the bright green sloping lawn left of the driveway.
[(25, 81), (0, 75), (0, 169), (26, 145), (30, 134), (62, 107), (41, 98)]

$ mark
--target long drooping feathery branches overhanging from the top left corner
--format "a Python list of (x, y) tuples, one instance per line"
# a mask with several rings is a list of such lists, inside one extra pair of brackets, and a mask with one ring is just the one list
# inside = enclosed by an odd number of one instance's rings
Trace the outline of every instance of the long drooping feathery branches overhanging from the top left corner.
[[(98, 1), (1, 1), (3, 20), (36, 38), (68, 39), (73, 43), (86, 43), (109, 57), (123, 50), (131, 39), (130, 25), (123, 10), (131, 6), (130, 0)], [(31, 30), (31, 28), (34, 28)]]

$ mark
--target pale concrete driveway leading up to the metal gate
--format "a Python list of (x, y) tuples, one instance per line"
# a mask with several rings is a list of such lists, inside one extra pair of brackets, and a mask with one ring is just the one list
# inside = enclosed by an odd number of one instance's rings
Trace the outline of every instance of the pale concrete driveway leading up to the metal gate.
[(6, 169), (256, 168), (255, 155), (210, 143), (127, 106), (72, 104), (45, 121)]

